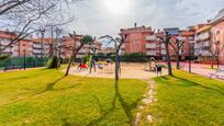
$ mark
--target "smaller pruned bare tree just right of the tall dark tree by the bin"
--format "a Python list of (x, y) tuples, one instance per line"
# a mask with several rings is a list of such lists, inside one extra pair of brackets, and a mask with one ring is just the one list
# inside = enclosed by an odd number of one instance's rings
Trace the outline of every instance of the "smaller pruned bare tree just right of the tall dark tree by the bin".
[(176, 38), (175, 41), (170, 41), (169, 45), (172, 47), (176, 54), (176, 62), (177, 62), (177, 69), (180, 69), (180, 50), (183, 47), (184, 42)]

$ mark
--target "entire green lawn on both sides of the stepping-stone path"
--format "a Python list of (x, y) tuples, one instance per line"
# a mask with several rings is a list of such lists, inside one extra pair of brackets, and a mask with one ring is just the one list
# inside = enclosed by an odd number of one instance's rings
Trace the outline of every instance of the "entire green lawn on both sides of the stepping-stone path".
[[(63, 69), (0, 73), (0, 125), (224, 125), (224, 82), (175, 70), (154, 77), (157, 102), (139, 110), (141, 79), (65, 77)], [(147, 114), (153, 115), (148, 123)]]

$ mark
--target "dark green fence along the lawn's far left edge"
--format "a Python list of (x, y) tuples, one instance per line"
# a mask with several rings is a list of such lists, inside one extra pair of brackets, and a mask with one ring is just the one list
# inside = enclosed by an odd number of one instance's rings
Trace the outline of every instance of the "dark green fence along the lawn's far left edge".
[(10, 57), (0, 61), (0, 70), (44, 67), (46, 66), (47, 60), (48, 58)]

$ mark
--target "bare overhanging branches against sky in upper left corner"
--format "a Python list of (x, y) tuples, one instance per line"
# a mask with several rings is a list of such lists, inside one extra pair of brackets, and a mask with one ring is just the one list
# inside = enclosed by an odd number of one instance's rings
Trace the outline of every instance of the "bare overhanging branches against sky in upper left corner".
[(38, 27), (47, 30), (46, 27), (71, 22), (71, 19), (65, 21), (64, 2), (67, 3), (67, 0), (1, 0), (0, 26), (15, 31), (16, 34), (1, 50), (40, 32)]

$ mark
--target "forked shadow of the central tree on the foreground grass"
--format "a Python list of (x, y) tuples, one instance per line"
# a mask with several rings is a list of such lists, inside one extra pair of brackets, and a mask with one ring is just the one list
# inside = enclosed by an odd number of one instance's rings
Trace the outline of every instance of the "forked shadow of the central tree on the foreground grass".
[(115, 106), (116, 106), (116, 102), (121, 103), (121, 106), (122, 106), (126, 117), (128, 118), (128, 124), (131, 126), (134, 125), (134, 116), (132, 114), (132, 108), (135, 108), (137, 106), (137, 103), (141, 101), (141, 99), (137, 100), (136, 102), (134, 102), (133, 104), (128, 104), (128, 103), (125, 102), (124, 98), (122, 96), (122, 94), (120, 92), (117, 81), (115, 81), (115, 83), (114, 83), (114, 89), (115, 89), (115, 94), (114, 94), (114, 98), (113, 98), (113, 100), (111, 102), (112, 106), (108, 111), (103, 110), (103, 107), (102, 107), (103, 105), (100, 104), (100, 100), (96, 95), (93, 95), (93, 98), (97, 101), (97, 104), (100, 107), (101, 116), (99, 118), (97, 118), (97, 119), (91, 121), (87, 126), (98, 125), (102, 119), (104, 119), (107, 117), (107, 115), (114, 112)]

